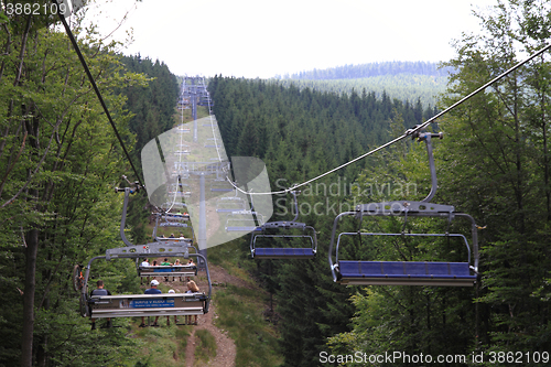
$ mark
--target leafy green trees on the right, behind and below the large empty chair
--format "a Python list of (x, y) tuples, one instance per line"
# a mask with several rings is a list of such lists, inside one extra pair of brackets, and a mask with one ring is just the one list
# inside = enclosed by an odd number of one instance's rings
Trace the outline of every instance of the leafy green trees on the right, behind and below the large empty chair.
[[(520, 52), (541, 47), (545, 32), (539, 30), (550, 13), (544, 1), (499, 1), (491, 12), (479, 14), (486, 33), (465, 35), (456, 43), (457, 57), (449, 66), (457, 73), (450, 79), (442, 107), (517, 64), (523, 58)], [(358, 290), (352, 298), (357, 310), (353, 331), (329, 339), (334, 353), (409, 350), (468, 356), (475, 350), (486, 355), (549, 350), (549, 71), (547, 56), (541, 57), (439, 121), (445, 139), (435, 143), (440, 191), (433, 202), (452, 204), (486, 228), (479, 236), (479, 284), (474, 290)], [(358, 182), (412, 180), (422, 188), (418, 192), (424, 192), (428, 183), (420, 179), (428, 174), (420, 169), (419, 150), (407, 148), (403, 155), (402, 149), (379, 158), (380, 168), (360, 175)], [(396, 231), (401, 225), (385, 222), (376, 223), (381, 231)], [(445, 225), (418, 220), (408, 228), (442, 233)], [(451, 229), (463, 230), (461, 223)], [(374, 245), (378, 250), (365, 256), (454, 261), (466, 255), (445, 242)]]

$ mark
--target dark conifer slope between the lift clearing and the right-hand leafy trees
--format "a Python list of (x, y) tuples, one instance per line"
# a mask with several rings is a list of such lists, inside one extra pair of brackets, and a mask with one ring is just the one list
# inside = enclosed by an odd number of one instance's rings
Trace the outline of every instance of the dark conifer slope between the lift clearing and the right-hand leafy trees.
[[(392, 101), (386, 94), (377, 99), (366, 90), (336, 95), (223, 77), (213, 78), (209, 89), (228, 155), (263, 159), (274, 190), (306, 181), (375, 148), (388, 139), (390, 120), (399, 114), (406, 120), (399, 133), (423, 117), (420, 102)], [(304, 187), (299, 196), (299, 220), (320, 231), (318, 253), (327, 252), (333, 217), (353, 205), (350, 184), (366, 166), (366, 161), (358, 162)], [(290, 219), (290, 205), (289, 197), (274, 197), (271, 220)], [(228, 256), (246, 258), (248, 244), (239, 244), (242, 252)], [(225, 258), (218, 256), (219, 261)], [(251, 268), (242, 262), (242, 268)], [(313, 261), (255, 261), (252, 268), (263, 287), (277, 294), (274, 311), (283, 319), (279, 344), (285, 365), (316, 365), (326, 337), (349, 330), (348, 299), (354, 290), (333, 283), (325, 256)]]

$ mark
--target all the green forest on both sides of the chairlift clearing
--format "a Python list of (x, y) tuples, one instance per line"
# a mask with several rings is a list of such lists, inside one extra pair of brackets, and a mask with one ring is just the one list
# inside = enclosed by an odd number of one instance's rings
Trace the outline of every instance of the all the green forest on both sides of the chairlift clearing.
[[(228, 156), (257, 156), (273, 191), (291, 187), (401, 136), (549, 42), (545, 1), (498, 1), (478, 17), (484, 29), (457, 40), (456, 56), (445, 63), (454, 72), (436, 107), (419, 96), (393, 98), (369, 89), (335, 93), (284, 80), (209, 78)], [(90, 331), (71, 279), (75, 265), (123, 246), (122, 197), (114, 187), (125, 185), (122, 175), (137, 177), (62, 29), (46, 15), (15, 14), (0, 18), (0, 366), (153, 366), (137, 359), (143, 334), (133, 334), (134, 321)], [(78, 22), (73, 32), (139, 163), (141, 148), (179, 122), (176, 76), (160, 61), (121, 55)], [(423, 365), (349, 358), (356, 352), (422, 354), (433, 358), (424, 365), (439, 366), (549, 365), (550, 78), (547, 52), (429, 128), (444, 137), (433, 140), (439, 184), (431, 202), (468, 213), (478, 226), (475, 287), (333, 281), (327, 252), (341, 212), (365, 203), (420, 201), (431, 190), (424, 144), (403, 139), (301, 187), (299, 220), (317, 231), (313, 260), (250, 259), (249, 237), (219, 246), (231, 249), (278, 315), (277, 324), (270, 324), (273, 317), (262, 321), (277, 343), (249, 337), (279, 355), (283, 366)], [(293, 217), (290, 195), (272, 199), (271, 220)], [(127, 236), (145, 241), (147, 198), (137, 196), (130, 212)], [(364, 219), (359, 228), (353, 220), (339, 226), (358, 234), (456, 233), (471, 239), (469, 224), (458, 219), (380, 217)], [(343, 242), (343, 259), (462, 262), (467, 257), (466, 248), (449, 238), (352, 237)], [(142, 292), (133, 261), (107, 262), (95, 271), (114, 293)], [(161, 343), (161, 332), (154, 335), (149, 344)], [(271, 366), (268, 359), (247, 364)]]

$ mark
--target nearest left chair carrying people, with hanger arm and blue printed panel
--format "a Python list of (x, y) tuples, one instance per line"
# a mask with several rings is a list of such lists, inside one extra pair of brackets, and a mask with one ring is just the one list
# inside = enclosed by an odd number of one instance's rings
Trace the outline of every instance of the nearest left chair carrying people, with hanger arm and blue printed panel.
[[(133, 317), (133, 316), (180, 316), (201, 315), (208, 312), (212, 294), (210, 273), (206, 258), (201, 253), (190, 253), (191, 246), (186, 241), (152, 242), (147, 245), (132, 245), (125, 236), (125, 224), (128, 207), (128, 196), (133, 191), (130, 188), (117, 188), (125, 192), (122, 207), (122, 219), (120, 235), (127, 247), (108, 249), (105, 256), (94, 257), (89, 260), (83, 279), (79, 279), (80, 288), (80, 314), (95, 319), (101, 317)], [(105, 259), (136, 259), (152, 257), (182, 257), (188, 259), (195, 257), (202, 259), (205, 265), (205, 273), (208, 282), (208, 293), (162, 293), (162, 294), (123, 294), (123, 295), (89, 295), (88, 279), (91, 263), (95, 260)], [(174, 276), (174, 272), (171, 272)]]

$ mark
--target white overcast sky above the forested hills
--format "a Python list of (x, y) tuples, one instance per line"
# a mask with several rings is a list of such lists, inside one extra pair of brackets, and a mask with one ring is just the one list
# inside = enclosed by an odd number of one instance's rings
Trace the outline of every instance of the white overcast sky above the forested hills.
[[(100, 0), (90, 10), (125, 54), (176, 75), (269, 78), (385, 61), (447, 61), (453, 39), (478, 33), (473, 10), (497, 0)], [(473, 4), (475, 3), (475, 4)]]

